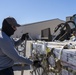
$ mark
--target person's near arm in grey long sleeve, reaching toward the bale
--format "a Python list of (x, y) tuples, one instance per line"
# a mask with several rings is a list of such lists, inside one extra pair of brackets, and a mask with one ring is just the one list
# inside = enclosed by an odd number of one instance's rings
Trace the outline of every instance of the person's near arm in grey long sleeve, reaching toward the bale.
[(12, 42), (8, 39), (0, 39), (0, 47), (2, 52), (7, 55), (9, 58), (13, 59), (16, 62), (21, 62), (24, 64), (32, 64), (32, 61), (26, 57), (20, 56), (15, 48), (12, 45)]

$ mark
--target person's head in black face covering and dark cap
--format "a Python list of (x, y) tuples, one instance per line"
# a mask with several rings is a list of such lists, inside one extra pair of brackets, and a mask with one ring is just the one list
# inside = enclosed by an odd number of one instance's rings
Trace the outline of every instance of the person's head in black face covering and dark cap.
[(15, 18), (7, 17), (3, 20), (2, 31), (5, 32), (8, 36), (11, 36), (17, 30), (18, 26), (20, 25), (17, 23)]

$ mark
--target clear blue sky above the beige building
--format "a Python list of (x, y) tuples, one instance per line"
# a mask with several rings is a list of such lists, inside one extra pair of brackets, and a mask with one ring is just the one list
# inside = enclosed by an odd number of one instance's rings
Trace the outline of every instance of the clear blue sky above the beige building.
[(8, 16), (29, 24), (76, 14), (76, 0), (0, 0), (0, 28)]

